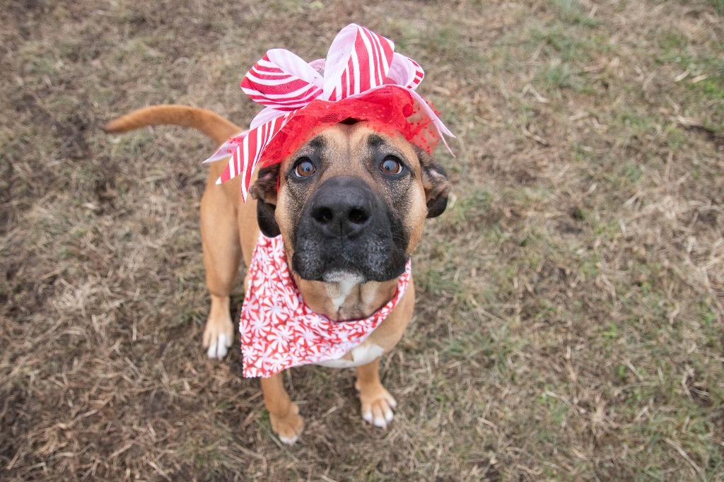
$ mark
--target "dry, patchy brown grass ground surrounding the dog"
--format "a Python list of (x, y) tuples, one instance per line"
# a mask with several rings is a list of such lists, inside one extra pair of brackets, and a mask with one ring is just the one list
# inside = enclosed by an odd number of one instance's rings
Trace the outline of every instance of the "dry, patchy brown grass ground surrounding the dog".
[[(721, 0), (0, 0), (3, 480), (724, 480)], [(382, 363), (287, 376), (306, 429), (201, 347), (198, 206), (215, 146), (156, 103), (246, 125), (269, 48), (367, 25), (426, 69), (453, 197)], [(233, 298), (237, 316), (242, 293)]]

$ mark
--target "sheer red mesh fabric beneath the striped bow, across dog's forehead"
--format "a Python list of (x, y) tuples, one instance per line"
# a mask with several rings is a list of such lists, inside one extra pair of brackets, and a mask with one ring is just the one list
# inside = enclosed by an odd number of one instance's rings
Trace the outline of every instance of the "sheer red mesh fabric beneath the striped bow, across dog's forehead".
[(277, 164), (314, 135), (345, 119), (368, 121), (385, 134), (399, 132), (410, 143), (432, 153), (439, 137), (432, 119), (408, 90), (387, 85), (341, 101), (317, 99), (296, 111), (261, 153), (261, 166)]

